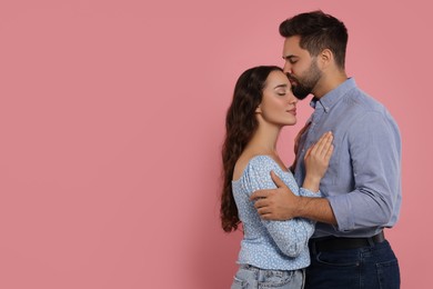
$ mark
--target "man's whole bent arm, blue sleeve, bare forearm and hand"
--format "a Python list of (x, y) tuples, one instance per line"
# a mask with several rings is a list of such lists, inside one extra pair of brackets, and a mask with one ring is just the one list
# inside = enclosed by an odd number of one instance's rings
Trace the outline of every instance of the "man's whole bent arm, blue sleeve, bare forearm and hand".
[[(401, 202), (401, 143), (396, 127), (377, 112), (364, 113), (351, 126), (350, 155), (354, 188), (326, 199), (299, 198), (281, 185), (253, 198), (260, 215), (268, 219), (304, 217), (336, 225), (341, 231), (391, 227)], [(281, 183), (281, 182), (279, 182)]]

